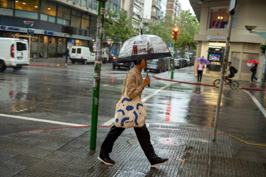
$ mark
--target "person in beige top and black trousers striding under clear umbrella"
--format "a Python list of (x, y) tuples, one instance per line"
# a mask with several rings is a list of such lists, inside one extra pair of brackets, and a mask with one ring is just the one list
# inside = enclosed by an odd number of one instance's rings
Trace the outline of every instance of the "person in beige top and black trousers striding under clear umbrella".
[[(124, 96), (125, 89), (127, 88), (127, 95), (130, 99), (133, 99), (137, 96), (141, 98), (144, 87), (150, 84), (150, 77), (146, 76), (143, 81), (141, 74), (142, 69), (146, 68), (148, 60), (134, 60), (133, 62), (135, 64), (135, 67), (128, 71), (127, 75), (124, 78), (122, 88), (122, 96)], [(136, 86), (136, 83), (138, 83), (138, 86)], [(113, 126), (110, 129), (109, 133), (106, 135), (98, 157), (98, 159), (106, 165), (115, 165), (117, 163), (109, 157), (109, 154), (112, 152), (113, 145), (116, 139), (121, 135), (124, 130), (125, 128)], [(144, 151), (144, 154), (148, 158), (151, 167), (156, 167), (157, 165), (168, 162), (168, 158), (161, 158), (156, 155), (153, 146), (150, 142), (150, 132), (148, 131), (146, 124), (144, 124), (143, 127), (134, 127), (134, 130), (139, 140), (139, 144), (142, 150)]]

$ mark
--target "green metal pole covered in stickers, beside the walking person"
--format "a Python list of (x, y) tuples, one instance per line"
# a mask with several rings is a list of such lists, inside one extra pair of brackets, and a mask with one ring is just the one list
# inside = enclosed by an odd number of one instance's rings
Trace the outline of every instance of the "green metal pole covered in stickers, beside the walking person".
[(99, 1), (97, 35), (96, 35), (96, 56), (94, 62), (92, 115), (91, 115), (90, 150), (93, 151), (96, 149), (96, 136), (97, 136), (97, 124), (98, 124), (98, 105), (99, 105), (101, 64), (102, 64), (102, 34), (103, 34), (104, 13), (105, 13), (105, 1)]

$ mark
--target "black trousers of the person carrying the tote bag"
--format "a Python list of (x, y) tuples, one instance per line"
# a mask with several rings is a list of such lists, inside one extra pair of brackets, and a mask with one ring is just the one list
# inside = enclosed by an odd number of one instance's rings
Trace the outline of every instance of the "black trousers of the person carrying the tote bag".
[[(118, 128), (116, 126), (113, 126), (110, 129), (109, 133), (106, 135), (105, 140), (102, 143), (100, 156), (109, 156), (109, 153), (112, 152), (116, 139), (122, 134), (124, 130), (125, 128)], [(150, 162), (153, 161), (158, 156), (155, 154), (153, 146), (150, 142), (150, 132), (147, 129), (146, 124), (143, 127), (134, 128), (134, 130), (139, 140), (139, 144), (144, 151), (144, 154)]]

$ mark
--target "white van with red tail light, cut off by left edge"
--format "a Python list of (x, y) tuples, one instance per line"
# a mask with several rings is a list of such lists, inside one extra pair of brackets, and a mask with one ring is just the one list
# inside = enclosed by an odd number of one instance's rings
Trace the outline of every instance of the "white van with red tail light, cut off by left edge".
[(17, 38), (0, 38), (0, 71), (7, 67), (20, 70), (30, 63), (28, 41)]

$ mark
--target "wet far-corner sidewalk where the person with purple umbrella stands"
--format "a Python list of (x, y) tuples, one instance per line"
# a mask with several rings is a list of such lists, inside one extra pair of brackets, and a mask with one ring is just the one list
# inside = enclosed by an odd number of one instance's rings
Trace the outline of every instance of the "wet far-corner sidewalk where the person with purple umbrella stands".
[[(180, 83), (185, 83), (185, 84), (200, 85), (200, 84), (197, 84), (197, 78), (195, 78), (194, 76), (193, 67), (184, 67), (181, 69), (175, 69), (173, 79), (171, 79), (171, 70), (160, 73), (160, 74), (156, 74), (153, 77), (157, 79), (167, 80), (167, 81), (175, 81), (175, 82), (180, 82)], [(213, 81), (215, 81), (216, 79), (220, 79), (220, 76), (202, 75), (201, 85), (213, 86)], [(266, 89), (265, 83), (263, 87), (260, 87), (260, 82), (250, 83), (249, 81), (238, 81), (238, 80), (236, 81), (239, 83), (239, 88), (242, 88), (242, 89), (258, 90), (258, 91), (265, 91)], [(225, 87), (229, 87), (229, 86), (226, 85)]]

